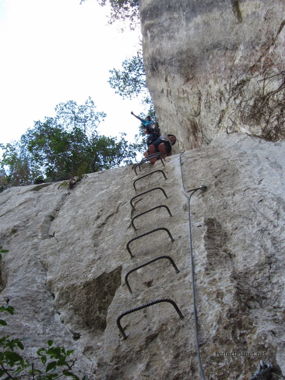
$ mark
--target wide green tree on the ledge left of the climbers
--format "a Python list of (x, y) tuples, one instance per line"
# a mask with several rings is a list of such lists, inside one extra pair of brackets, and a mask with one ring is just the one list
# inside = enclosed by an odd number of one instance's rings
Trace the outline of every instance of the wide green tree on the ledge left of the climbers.
[(90, 97), (83, 105), (60, 103), (55, 117), (36, 121), (20, 141), (2, 145), (8, 186), (31, 184), (41, 175), (50, 181), (70, 179), (83, 163), (86, 173), (132, 163), (138, 145), (128, 144), (123, 133), (120, 139), (99, 135), (97, 128), (106, 114), (95, 108)]

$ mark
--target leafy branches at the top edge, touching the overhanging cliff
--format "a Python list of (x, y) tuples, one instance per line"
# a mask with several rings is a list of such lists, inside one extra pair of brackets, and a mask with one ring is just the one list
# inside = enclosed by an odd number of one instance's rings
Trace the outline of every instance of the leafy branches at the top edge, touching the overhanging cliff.
[[(86, 0), (80, 0), (80, 4)], [(139, 0), (97, 0), (101, 6), (108, 4), (111, 8), (109, 24), (122, 21), (134, 30), (139, 24)], [(123, 28), (121, 28), (123, 30)]]

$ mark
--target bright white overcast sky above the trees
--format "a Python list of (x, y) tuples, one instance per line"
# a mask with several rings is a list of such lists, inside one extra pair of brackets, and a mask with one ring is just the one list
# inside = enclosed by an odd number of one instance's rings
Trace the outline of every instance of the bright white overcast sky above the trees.
[(60, 102), (91, 96), (107, 114), (107, 136), (138, 133), (138, 100), (123, 100), (107, 83), (112, 68), (138, 50), (139, 32), (107, 25), (96, 0), (0, 0), (0, 142), (19, 139), (34, 120), (54, 116)]

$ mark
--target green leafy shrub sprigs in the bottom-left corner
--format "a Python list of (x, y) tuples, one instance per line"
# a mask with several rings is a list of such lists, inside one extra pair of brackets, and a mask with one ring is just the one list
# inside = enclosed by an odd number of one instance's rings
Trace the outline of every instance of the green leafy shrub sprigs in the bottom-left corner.
[[(0, 246), (1, 253), (9, 252)], [(2, 256), (0, 255), (0, 261)], [(8, 305), (0, 306), (0, 312), (14, 314), (14, 308)], [(0, 320), (0, 325), (7, 326), (6, 321)], [(24, 378), (32, 376), (33, 380), (54, 380), (64, 377), (79, 380), (78, 375), (73, 373), (76, 359), (70, 358), (74, 350), (66, 350), (65, 347), (54, 346), (53, 341), (47, 341), (47, 347), (36, 351), (38, 364), (30, 363), (20, 355), (18, 350), (24, 350), (21, 339), (9, 339), (9, 335), (0, 338), (0, 378), (5, 380), (19, 380), (19, 375)], [(79, 371), (81, 372), (81, 371)], [(28, 375), (30, 374), (30, 375)], [(85, 375), (82, 380), (87, 380)]]

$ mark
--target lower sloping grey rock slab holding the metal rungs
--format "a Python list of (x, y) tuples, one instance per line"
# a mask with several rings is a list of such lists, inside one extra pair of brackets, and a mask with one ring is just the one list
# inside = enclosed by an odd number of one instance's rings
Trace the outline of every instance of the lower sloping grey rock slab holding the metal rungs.
[[(15, 307), (3, 334), (25, 337), (27, 354), (52, 338), (75, 349), (89, 379), (199, 379), (186, 191), (190, 199), (201, 363), (212, 380), (248, 379), (259, 360), (285, 376), (284, 143), (246, 134), (144, 164), (0, 194), (2, 300)], [(153, 173), (136, 183), (138, 177)], [(151, 188), (160, 189), (138, 196)], [(152, 207), (160, 207), (131, 218)], [(157, 230), (127, 242), (155, 228)], [(166, 258), (125, 275), (160, 255)], [(167, 298), (125, 315), (134, 307)], [(226, 356), (225, 351), (230, 353)], [(240, 354), (237, 354), (237, 353)], [(250, 353), (253, 353), (250, 355)], [(258, 356), (258, 354), (262, 356)], [(82, 377), (81, 377), (82, 378)]]

